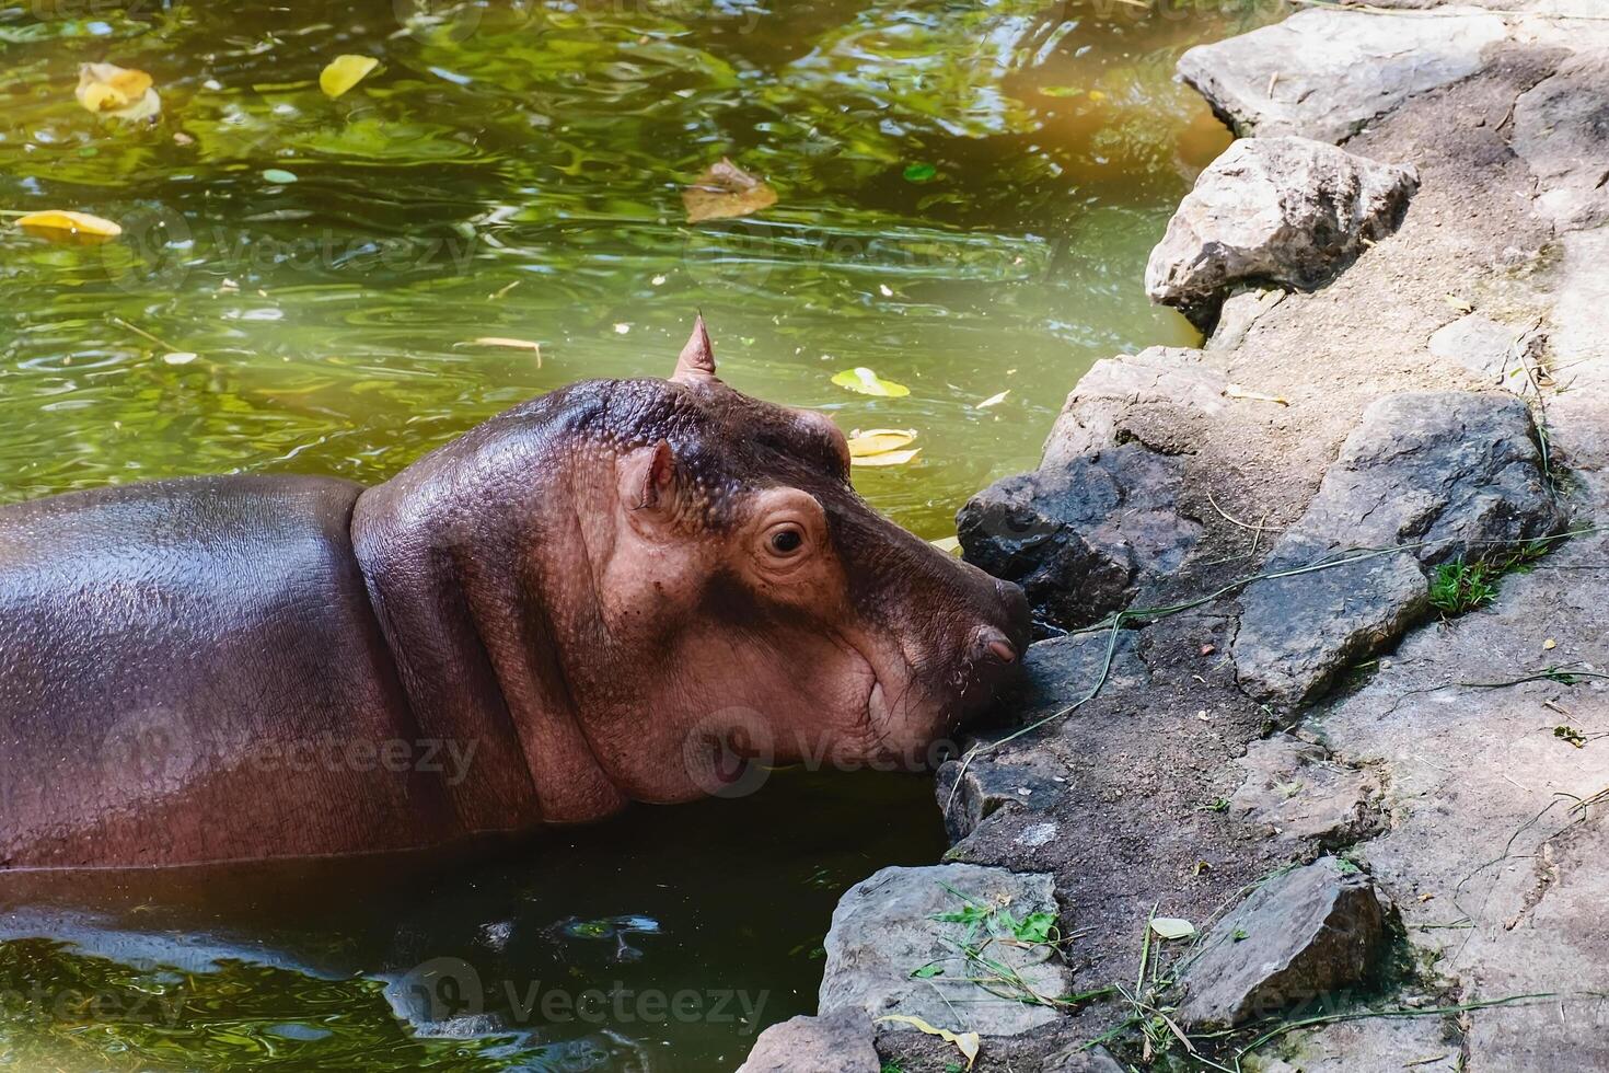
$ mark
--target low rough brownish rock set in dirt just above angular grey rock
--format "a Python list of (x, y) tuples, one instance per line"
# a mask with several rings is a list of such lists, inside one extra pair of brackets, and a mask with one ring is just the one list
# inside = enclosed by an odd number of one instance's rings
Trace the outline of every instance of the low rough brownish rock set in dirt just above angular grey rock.
[(1261, 835), (1334, 849), (1379, 825), (1381, 780), (1337, 764), (1321, 745), (1276, 734), (1252, 742), (1239, 764), (1247, 774), (1229, 816)]

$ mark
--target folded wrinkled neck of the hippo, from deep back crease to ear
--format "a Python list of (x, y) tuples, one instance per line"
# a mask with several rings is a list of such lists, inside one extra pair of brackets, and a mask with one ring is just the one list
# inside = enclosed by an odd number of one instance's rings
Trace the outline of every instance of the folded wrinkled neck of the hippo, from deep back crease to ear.
[[(525, 410), (521, 407), (520, 410)], [(541, 410), (542, 402), (531, 410)], [(520, 410), (504, 415), (512, 418)], [(471, 833), (599, 819), (626, 804), (566, 682), (586, 505), (553, 413), (499, 420), (365, 491), (352, 544), (409, 705), (430, 738), (473, 750), (451, 791)], [(533, 479), (534, 478), (534, 479)], [(544, 549), (533, 553), (533, 549)]]

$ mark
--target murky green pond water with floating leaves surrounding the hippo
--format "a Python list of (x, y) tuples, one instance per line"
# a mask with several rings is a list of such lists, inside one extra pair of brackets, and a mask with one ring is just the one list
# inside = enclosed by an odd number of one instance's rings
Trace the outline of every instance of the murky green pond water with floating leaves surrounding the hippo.
[[(0, 211), (124, 228), (63, 245), (0, 217), (0, 499), (232, 470), (380, 481), (541, 391), (663, 375), (702, 307), (735, 386), (917, 430), (912, 463), (858, 484), (948, 536), (967, 494), (1035, 462), (1089, 362), (1194, 339), (1139, 286), (1228, 143), (1173, 61), (1274, 14), (0, 6)], [(381, 66), (330, 100), (339, 53)], [(150, 72), (161, 117), (80, 108), (87, 61)], [(685, 224), (682, 190), (722, 156), (777, 204)], [(832, 383), (854, 367), (911, 394)], [(0, 1065), (730, 1068), (813, 1007), (842, 890), (941, 849), (922, 780), (776, 782), (423, 870), (11, 886)], [(542, 1005), (592, 991), (602, 1015)]]

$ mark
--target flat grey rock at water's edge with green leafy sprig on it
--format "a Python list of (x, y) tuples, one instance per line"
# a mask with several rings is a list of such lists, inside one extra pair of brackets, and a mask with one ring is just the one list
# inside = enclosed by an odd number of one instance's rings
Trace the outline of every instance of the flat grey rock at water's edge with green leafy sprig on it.
[[(965, 980), (977, 975), (956, 954), (954, 944), (962, 941), (965, 927), (933, 919), (964, 907), (944, 885), (985, 906), (1009, 901), (1017, 919), (1059, 911), (1049, 875), (1018, 875), (975, 864), (883, 869), (850, 888), (832, 914), (821, 981), (822, 1015), (853, 1009), (877, 1022), (904, 1013), (938, 1028), (985, 1036), (1014, 1036), (1057, 1018), (1052, 1007), (999, 997)], [(991, 957), (1010, 965), (1038, 994), (1065, 994), (1067, 970), (1044, 960), (1044, 954), (1043, 948), (1038, 952), (1017, 946), (990, 948)], [(916, 968), (935, 962), (946, 972), (927, 980), (911, 978)]]

